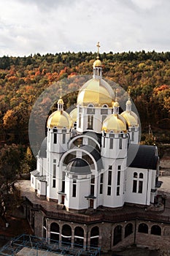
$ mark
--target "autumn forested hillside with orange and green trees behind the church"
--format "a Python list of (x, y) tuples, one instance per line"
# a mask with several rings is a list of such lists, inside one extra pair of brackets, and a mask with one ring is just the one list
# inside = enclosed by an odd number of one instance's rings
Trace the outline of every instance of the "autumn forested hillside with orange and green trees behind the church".
[[(41, 56), (0, 58), (0, 140), (12, 143), (22, 153), (22, 167), (28, 170), (31, 152), (28, 148), (28, 120), (37, 97), (50, 85), (75, 75), (90, 75), (96, 54), (56, 53)], [(131, 98), (142, 122), (142, 140), (147, 141), (151, 124), (157, 143), (170, 143), (170, 52), (103, 53), (100, 55), (103, 76), (123, 86), (131, 86)], [(79, 80), (69, 84), (77, 91)], [(63, 94), (66, 94), (63, 91)], [(58, 97), (58, 95), (56, 95)], [(76, 97), (74, 94), (74, 98)], [(67, 97), (67, 105), (74, 102)], [(44, 102), (45, 104), (45, 102)], [(14, 147), (14, 146), (13, 146)], [(12, 148), (10, 148), (12, 150)]]

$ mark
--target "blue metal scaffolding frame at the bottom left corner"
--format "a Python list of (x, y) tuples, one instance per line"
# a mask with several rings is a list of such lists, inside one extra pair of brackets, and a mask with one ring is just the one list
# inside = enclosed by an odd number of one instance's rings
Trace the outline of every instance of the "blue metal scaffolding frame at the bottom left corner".
[(49, 238), (39, 238), (37, 236), (20, 235), (12, 238), (7, 244), (0, 249), (0, 255), (83, 255), (97, 256), (100, 255), (100, 247), (83, 247), (79, 244), (71, 244), (61, 241), (55, 241)]

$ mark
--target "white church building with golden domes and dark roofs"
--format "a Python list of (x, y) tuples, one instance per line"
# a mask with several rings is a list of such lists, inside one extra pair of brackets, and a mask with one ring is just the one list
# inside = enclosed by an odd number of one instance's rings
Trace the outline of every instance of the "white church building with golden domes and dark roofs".
[(31, 172), (36, 194), (76, 212), (154, 203), (157, 147), (139, 145), (140, 122), (131, 110), (131, 98), (120, 113), (117, 95), (102, 78), (99, 57), (93, 78), (79, 91), (77, 107), (66, 113), (63, 106), (60, 97)]

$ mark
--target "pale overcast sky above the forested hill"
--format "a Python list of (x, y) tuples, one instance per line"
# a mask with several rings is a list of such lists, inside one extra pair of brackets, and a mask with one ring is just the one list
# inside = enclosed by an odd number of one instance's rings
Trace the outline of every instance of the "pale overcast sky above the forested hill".
[(169, 0), (0, 0), (0, 56), (170, 50)]

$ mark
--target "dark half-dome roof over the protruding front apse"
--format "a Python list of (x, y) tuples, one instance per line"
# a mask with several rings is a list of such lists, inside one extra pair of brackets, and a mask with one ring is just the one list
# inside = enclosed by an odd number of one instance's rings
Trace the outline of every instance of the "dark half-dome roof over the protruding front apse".
[(66, 169), (70, 172), (70, 173), (74, 173), (77, 175), (82, 175), (82, 174), (90, 174), (91, 170), (90, 170), (90, 166), (88, 165), (88, 162), (86, 162), (84, 159), (82, 158), (74, 158), (69, 162), (69, 165), (67, 165)]

